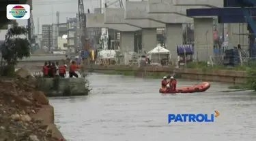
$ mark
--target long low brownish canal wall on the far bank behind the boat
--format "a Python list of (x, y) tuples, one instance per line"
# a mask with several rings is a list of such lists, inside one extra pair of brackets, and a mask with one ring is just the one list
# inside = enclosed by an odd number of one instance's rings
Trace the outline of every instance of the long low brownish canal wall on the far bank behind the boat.
[(228, 70), (202, 70), (195, 68), (177, 69), (162, 66), (146, 66), (138, 68), (137, 66), (93, 66), (94, 72), (104, 71), (134, 71), (137, 73), (166, 73), (177, 74), (182, 79), (194, 79), (202, 81), (218, 81), (225, 83), (244, 83), (246, 81), (246, 73), (244, 71), (228, 71)]

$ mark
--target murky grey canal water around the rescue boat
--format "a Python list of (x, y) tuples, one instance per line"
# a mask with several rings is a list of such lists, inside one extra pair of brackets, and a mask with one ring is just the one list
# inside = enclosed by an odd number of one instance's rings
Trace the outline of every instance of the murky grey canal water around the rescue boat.
[[(93, 92), (76, 98), (52, 98), (55, 123), (70, 141), (221, 140), (256, 138), (256, 94), (221, 93), (222, 83), (207, 92), (162, 96), (160, 79), (93, 74)], [(196, 81), (178, 80), (178, 86)], [(214, 123), (167, 123), (169, 113), (214, 113)]]

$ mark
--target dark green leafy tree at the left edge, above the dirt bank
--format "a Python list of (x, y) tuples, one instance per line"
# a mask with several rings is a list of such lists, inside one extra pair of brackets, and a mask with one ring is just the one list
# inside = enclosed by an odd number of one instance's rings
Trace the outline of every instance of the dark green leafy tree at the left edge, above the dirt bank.
[[(5, 35), (5, 41), (1, 45), (1, 75), (14, 75), (14, 67), (18, 60), (30, 56), (29, 41), (20, 38), (20, 35), (27, 35), (27, 28), (14, 23)], [(3, 62), (5, 60), (5, 62)]]

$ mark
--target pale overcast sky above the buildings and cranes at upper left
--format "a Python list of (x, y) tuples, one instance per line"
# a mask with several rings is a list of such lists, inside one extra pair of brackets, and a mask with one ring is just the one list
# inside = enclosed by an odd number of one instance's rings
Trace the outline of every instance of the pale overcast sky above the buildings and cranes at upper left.
[[(116, 1), (116, 0), (105, 0)], [(131, 0), (141, 1), (141, 0)], [(100, 0), (83, 0), (85, 6), (85, 12), (90, 9), (90, 12), (94, 11), (94, 8), (100, 7)], [(125, 4), (125, 0), (123, 0)], [(118, 4), (118, 3), (117, 3)], [(111, 7), (115, 7), (112, 5)], [(78, 1), (77, 0), (33, 0), (33, 22), (35, 24), (35, 34), (38, 34), (38, 19), (40, 26), (40, 33), (42, 24), (57, 23), (56, 12), (59, 11), (59, 22), (66, 22), (66, 18), (74, 18), (78, 13)], [(27, 20), (17, 20), (19, 25), (26, 26)], [(4, 39), (6, 31), (0, 31), (0, 39)]]

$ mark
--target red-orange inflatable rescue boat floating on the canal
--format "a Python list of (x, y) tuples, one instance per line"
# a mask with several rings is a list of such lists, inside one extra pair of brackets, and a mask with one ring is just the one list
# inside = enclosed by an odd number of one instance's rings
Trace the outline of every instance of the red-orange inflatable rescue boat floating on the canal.
[(210, 88), (209, 82), (202, 82), (197, 85), (188, 87), (177, 87), (176, 91), (170, 91), (168, 88), (160, 88), (160, 93), (173, 94), (173, 93), (194, 93), (194, 92), (205, 92)]

